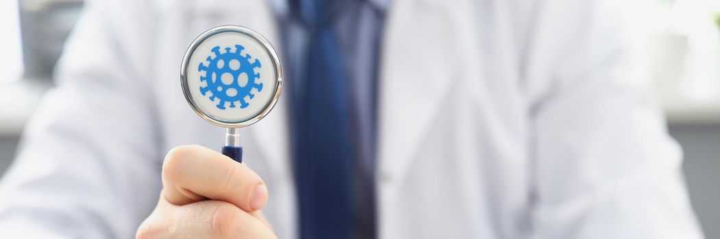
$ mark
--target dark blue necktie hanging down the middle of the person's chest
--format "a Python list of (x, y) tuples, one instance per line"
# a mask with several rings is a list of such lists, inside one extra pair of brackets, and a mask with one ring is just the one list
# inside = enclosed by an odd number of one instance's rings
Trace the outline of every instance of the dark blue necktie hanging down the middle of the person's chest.
[(342, 1), (291, 1), (310, 32), (306, 74), (293, 87), (294, 177), (301, 238), (349, 238), (354, 155), (350, 94), (333, 14)]

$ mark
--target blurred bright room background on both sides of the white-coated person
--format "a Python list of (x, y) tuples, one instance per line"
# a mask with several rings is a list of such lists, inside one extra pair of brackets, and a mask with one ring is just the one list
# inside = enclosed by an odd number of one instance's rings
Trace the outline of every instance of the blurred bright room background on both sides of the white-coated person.
[[(720, 1), (615, 1), (647, 51), (647, 71), (707, 238), (720, 238)], [(82, 0), (0, 1), (0, 175), (45, 90)]]

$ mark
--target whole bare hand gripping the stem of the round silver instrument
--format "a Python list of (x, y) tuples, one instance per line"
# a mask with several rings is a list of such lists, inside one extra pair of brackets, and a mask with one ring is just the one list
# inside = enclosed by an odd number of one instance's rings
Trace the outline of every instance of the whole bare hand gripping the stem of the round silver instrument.
[(276, 238), (260, 209), (263, 180), (202, 146), (179, 146), (163, 162), (163, 191), (136, 238)]

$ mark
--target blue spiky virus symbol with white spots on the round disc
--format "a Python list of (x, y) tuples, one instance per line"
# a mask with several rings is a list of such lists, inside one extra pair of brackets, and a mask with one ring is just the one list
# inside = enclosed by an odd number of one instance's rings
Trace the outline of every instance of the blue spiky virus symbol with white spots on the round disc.
[[(200, 76), (200, 81), (207, 83), (200, 86), (200, 93), (207, 95), (210, 100), (219, 99), (217, 108), (224, 110), (225, 103), (230, 103), (230, 108), (235, 108), (235, 102), (240, 102), (240, 108), (250, 106), (249, 100), (255, 97), (250, 91), (255, 88), (260, 92), (263, 90), (263, 83), (260, 80), (260, 73), (255, 68), (260, 68), (260, 61), (255, 59), (251, 62), (250, 54), (242, 55), (245, 47), (236, 44), (235, 52), (226, 47), (225, 53), (220, 52), (220, 46), (212, 48), (215, 58), (207, 57), (207, 65), (200, 62), (197, 67), (199, 72), (205, 72)], [(247, 101), (246, 101), (247, 98)]]

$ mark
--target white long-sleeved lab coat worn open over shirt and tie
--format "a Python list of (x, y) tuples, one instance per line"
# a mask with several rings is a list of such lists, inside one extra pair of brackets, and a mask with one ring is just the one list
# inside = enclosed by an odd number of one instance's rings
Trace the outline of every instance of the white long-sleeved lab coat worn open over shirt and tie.
[[(379, 79), (381, 238), (701, 238), (681, 152), (617, 16), (600, 1), (393, 0)], [(279, 45), (256, 0), (86, 5), (3, 179), (0, 233), (132, 238), (163, 155), (220, 149), (179, 84), (200, 32)], [(288, 79), (292, 80), (292, 79)], [(287, 98), (243, 128), (280, 238), (297, 233)], [(5, 236), (2, 236), (6, 238)]]

